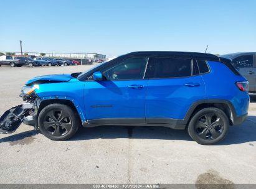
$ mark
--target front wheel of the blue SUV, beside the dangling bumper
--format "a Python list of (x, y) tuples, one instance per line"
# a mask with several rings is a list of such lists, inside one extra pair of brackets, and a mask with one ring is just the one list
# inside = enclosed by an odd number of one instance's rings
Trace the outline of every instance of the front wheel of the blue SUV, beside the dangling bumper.
[(77, 132), (80, 121), (69, 106), (50, 104), (40, 111), (38, 125), (45, 137), (53, 141), (65, 141)]

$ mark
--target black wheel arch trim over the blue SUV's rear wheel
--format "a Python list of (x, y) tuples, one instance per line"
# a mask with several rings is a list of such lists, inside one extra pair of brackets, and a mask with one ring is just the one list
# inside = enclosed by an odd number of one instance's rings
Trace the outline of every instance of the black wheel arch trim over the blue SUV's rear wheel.
[(221, 109), (227, 115), (227, 118), (229, 118), (230, 125), (233, 125), (232, 111), (231, 111), (229, 105), (225, 104), (225, 103), (204, 103), (204, 104), (199, 104), (199, 105), (196, 106), (196, 108), (194, 109), (193, 113), (191, 114), (191, 116), (189, 118), (189, 121), (191, 120), (192, 116), (194, 116), (194, 114), (196, 114), (198, 111), (200, 111), (201, 109), (204, 109), (204, 108), (219, 108), (219, 109)]

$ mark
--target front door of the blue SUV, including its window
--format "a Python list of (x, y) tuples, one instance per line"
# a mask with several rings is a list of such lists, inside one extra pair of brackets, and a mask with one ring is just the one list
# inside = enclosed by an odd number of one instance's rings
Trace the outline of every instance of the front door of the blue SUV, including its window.
[(104, 124), (145, 123), (144, 79), (148, 58), (126, 58), (102, 68), (102, 81), (85, 81), (85, 110), (89, 121), (101, 119)]

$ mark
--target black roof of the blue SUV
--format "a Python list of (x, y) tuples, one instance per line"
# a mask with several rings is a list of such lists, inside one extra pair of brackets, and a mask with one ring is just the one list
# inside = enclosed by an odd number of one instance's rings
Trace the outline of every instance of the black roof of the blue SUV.
[(138, 51), (131, 52), (126, 55), (134, 56), (163, 56), (163, 57), (175, 57), (175, 58), (197, 58), (199, 60), (212, 60), (220, 61), (219, 57), (210, 53), (199, 52), (175, 52), (175, 51)]

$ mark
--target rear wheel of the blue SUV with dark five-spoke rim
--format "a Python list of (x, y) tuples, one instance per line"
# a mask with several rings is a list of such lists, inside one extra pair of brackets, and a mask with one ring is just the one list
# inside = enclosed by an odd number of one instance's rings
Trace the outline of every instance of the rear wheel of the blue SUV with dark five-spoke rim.
[(192, 116), (187, 131), (198, 144), (217, 144), (229, 131), (229, 118), (219, 108), (204, 108)]

